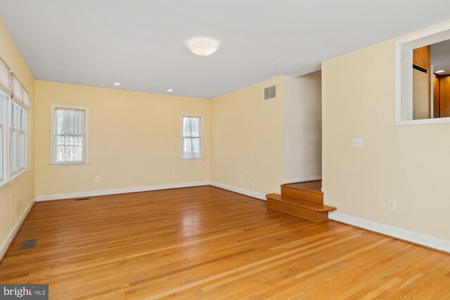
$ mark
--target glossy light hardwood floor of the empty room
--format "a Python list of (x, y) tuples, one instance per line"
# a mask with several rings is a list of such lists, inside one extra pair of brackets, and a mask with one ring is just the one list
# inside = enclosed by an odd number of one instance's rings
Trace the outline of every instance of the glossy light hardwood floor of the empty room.
[(38, 202), (0, 282), (50, 299), (450, 299), (450, 255), (203, 186)]

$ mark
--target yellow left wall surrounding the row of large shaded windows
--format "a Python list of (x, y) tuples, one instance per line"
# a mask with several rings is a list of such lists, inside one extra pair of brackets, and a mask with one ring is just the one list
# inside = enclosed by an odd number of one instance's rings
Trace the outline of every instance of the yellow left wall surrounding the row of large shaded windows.
[[(30, 134), (28, 140), (28, 170), (0, 188), (0, 244), (7, 242), (9, 235), (20, 222), (34, 198), (34, 78), (28, 70), (18, 48), (0, 20), (0, 57), (30, 93)], [(4, 249), (0, 247), (0, 257)]]

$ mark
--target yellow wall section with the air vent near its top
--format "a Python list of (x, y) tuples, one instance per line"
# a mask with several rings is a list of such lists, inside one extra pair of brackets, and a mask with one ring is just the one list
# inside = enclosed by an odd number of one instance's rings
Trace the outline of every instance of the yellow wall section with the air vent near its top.
[[(277, 96), (264, 100), (264, 87)], [(283, 77), (211, 100), (210, 180), (257, 193), (283, 181)], [(243, 174), (243, 180), (240, 180)]]

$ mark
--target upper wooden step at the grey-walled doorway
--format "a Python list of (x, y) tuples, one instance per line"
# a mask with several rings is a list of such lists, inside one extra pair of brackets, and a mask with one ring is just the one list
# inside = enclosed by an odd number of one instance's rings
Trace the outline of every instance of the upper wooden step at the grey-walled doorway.
[(287, 183), (281, 185), (281, 195), (323, 204), (322, 181), (307, 181), (304, 183)]

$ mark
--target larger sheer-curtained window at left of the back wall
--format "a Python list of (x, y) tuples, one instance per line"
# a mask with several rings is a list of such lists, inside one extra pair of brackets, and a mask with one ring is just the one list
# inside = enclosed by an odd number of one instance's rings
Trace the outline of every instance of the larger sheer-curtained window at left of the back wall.
[(52, 107), (51, 164), (86, 164), (87, 108)]

